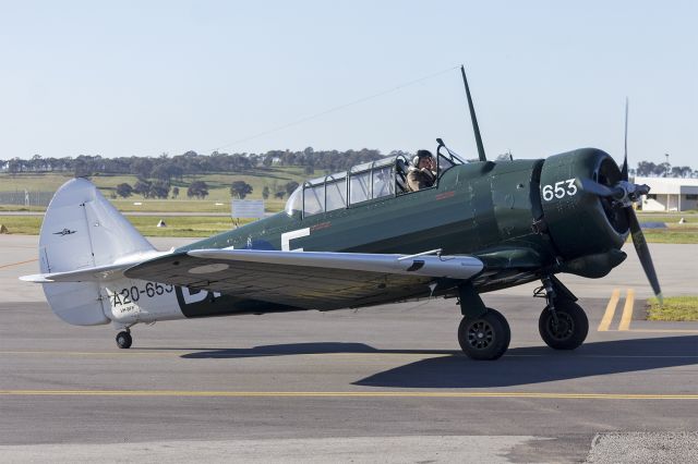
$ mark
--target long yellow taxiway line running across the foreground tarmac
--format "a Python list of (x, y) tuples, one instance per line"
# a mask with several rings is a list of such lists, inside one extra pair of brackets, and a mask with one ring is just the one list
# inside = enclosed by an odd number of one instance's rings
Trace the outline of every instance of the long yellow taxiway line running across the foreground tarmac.
[(544, 393), (431, 391), (191, 391), (191, 390), (0, 390), (4, 396), (180, 396), (180, 398), (524, 398), (552, 400), (698, 400), (698, 394)]

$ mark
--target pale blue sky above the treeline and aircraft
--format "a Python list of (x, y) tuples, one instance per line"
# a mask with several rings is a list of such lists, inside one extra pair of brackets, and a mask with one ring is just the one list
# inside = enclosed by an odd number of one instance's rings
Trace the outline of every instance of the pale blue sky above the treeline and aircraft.
[(619, 160), (628, 96), (631, 166), (698, 168), (695, 4), (0, 0), (0, 159), (436, 137), (476, 157), (465, 63), (491, 157)]

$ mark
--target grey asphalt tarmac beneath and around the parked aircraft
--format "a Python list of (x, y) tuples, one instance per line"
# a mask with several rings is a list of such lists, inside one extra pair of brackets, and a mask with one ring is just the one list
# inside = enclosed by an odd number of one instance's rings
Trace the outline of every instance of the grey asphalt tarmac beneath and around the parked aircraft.
[[(698, 246), (650, 247), (665, 294), (698, 292)], [(136, 326), (118, 350), (16, 281), (36, 237), (0, 235), (0, 461), (695, 462), (698, 323), (642, 320), (633, 253), (561, 277), (590, 319), (574, 352), (540, 340), (529, 286), (484, 295), (512, 344), (474, 362), (443, 300)]]

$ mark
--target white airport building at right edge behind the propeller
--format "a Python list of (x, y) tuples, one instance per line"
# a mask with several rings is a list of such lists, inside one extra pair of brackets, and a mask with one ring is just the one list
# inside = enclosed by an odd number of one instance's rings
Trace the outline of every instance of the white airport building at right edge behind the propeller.
[(688, 211), (698, 209), (698, 179), (635, 178), (651, 191), (642, 196), (643, 211)]

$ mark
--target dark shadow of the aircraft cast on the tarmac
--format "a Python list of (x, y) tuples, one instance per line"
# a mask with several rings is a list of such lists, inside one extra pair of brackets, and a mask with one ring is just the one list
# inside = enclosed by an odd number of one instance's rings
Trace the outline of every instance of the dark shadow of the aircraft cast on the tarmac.
[[(363, 343), (296, 343), (189, 353), (184, 358), (236, 358), (328, 353), (433, 354), (353, 384), (390, 388), (485, 388), (631, 373), (698, 364), (698, 337), (586, 343), (575, 351), (514, 347), (498, 361), (471, 361), (456, 351), (376, 350)], [(441, 355), (441, 356), (437, 356)], [(445, 356), (444, 356), (445, 355)]]

